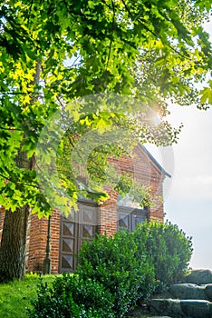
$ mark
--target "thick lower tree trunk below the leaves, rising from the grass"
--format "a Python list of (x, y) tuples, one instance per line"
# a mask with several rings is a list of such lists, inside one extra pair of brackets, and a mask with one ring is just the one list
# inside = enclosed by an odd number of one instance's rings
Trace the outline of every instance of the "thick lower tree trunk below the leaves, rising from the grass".
[(5, 212), (5, 223), (0, 247), (0, 282), (24, 278), (26, 229), (29, 206), (12, 213)]

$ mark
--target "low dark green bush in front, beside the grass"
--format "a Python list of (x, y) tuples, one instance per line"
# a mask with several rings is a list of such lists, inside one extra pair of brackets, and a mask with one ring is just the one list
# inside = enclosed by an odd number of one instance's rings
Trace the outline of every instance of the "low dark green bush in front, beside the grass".
[(30, 318), (114, 318), (114, 297), (101, 283), (77, 275), (56, 277), (53, 287), (40, 282)]

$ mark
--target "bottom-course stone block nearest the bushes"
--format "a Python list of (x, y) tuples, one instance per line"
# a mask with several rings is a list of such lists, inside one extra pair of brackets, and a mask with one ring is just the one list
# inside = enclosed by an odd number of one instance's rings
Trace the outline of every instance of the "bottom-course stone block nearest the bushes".
[(150, 312), (158, 315), (184, 317), (178, 299), (151, 299), (149, 309)]

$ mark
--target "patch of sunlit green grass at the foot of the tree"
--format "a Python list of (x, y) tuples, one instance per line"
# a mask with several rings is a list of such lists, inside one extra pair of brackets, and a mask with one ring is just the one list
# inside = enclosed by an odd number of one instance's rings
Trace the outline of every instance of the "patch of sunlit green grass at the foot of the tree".
[[(23, 281), (0, 283), (0, 318), (26, 318), (26, 307), (36, 299), (39, 275), (26, 274)], [(53, 275), (44, 275), (43, 282), (52, 283)]]

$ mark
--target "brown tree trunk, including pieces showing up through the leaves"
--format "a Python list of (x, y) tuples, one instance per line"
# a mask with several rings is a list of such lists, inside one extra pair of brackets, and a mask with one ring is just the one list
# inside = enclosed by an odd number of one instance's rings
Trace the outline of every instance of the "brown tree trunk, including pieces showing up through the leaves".
[[(34, 82), (39, 83), (41, 61), (37, 62)], [(31, 104), (34, 104), (36, 96), (32, 96)], [(19, 149), (15, 158), (15, 164), (25, 170), (34, 169), (34, 156), (27, 158), (27, 153)], [(5, 211), (5, 222), (0, 246), (0, 282), (13, 281), (24, 278), (25, 274), (25, 247), (26, 232), (30, 214), (28, 204), (17, 208), (14, 212)]]

